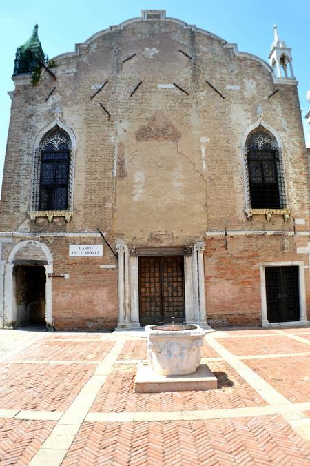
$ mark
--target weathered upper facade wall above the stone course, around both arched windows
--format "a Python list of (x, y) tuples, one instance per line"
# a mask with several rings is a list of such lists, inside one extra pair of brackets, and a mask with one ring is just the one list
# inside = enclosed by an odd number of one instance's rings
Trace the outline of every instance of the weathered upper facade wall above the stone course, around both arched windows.
[[(56, 81), (43, 72), (37, 86), (17, 84), (14, 92), (2, 230), (99, 226), (112, 237), (147, 244), (154, 231), (171, 232), (175, 243), (186, 243), (205, 230), (249, 227), (240, 144), (247, 126), (257, 120), (258, 104), (283, 141), (293, 215), (307, 212), (307, 156), (296, 86), (275, 85), (262, 62), (178, 23), (140, 21), (97, 34), (79, 54), (56, 57), (56, 64)], [(161, 88), (172, 83), (189, 95)], [(276, 88), (280, 91), (269, 99)], [(31, 225), (34, 139), (53, 121), (56, 105), (76, 136), (74, 216), (68, 225), (64, 219)], [(251, 225), (268, 224), (260, 216)], [(282, 227), (282, 218), (276, 226)], [(285, 227), (291, 229), (291, 221)]]

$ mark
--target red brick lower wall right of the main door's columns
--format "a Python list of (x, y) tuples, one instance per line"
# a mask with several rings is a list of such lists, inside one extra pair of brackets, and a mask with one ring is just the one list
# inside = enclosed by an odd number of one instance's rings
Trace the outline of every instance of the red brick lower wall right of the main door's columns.
[[(282, 252), (283, 240), (289, 251)], [(307, 301), (308, 254), (296, 254), (296, 236), (209, 237), (205, 251), (205, 295), (211, 325), (259, 325), (261, 321), (260, 265), (304, 261)], [(309, 309), (309, 307), (308, 307)], [(308, 313), (310, 317), (310, 312)]]

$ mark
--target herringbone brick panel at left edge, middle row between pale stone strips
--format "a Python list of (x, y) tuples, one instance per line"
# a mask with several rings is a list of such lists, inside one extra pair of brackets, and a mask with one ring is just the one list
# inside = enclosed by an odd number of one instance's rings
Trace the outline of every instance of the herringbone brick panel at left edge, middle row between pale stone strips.
[(90, 378), (92, 365), (0, 365), (0, 409), (66, 409)]

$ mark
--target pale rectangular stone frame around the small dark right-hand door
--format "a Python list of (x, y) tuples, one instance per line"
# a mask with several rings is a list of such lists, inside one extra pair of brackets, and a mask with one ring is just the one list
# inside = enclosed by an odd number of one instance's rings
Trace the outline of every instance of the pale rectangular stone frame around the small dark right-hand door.
[[(267, 296), (266, 296), (266, 277), (265, 267), (288, 267), (295, 265), (298, 267), (299, 282), (299, 321), (295, 322), (276, 322), (269, 323), (267, 318)], [(298, 326), (309, 325), (306, 312), (306, 286), (304, 282), (304, 262), (303, 261), (286, 261), (286, 262), (264, 262), (260, 263), (260, 297), (262, 306), (262, 327), (279, 327), (279, 326)]]

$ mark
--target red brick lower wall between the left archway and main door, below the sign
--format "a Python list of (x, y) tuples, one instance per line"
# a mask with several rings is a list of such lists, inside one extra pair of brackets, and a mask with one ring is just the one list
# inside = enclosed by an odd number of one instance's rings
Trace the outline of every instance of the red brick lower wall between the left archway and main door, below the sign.
[(117, 269), (113, 254), (104, 245), (103, 257), (70, 257), (70, 244), (101, 244), (93, 239), (54, 239), (50, 249), (54, 256), (52, 278), (52, 315), (54, 326), (61, 330), (113, 329), (118, 320)]

